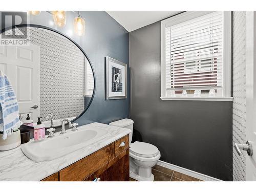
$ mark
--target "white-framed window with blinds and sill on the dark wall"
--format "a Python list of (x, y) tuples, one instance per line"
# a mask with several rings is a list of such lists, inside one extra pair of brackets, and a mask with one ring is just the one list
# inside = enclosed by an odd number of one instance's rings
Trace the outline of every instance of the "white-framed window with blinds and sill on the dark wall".
[(161, 99), (232, 100), (231, 13), (187, 11), (161, 22)]

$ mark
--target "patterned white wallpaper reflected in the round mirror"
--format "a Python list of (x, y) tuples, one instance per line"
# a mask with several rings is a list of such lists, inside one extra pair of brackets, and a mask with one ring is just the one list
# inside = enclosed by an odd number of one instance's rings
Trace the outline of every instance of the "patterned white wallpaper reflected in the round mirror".
[(77, 117), (84, 110), (86, 57), (72, 41), (50, 30), (29, 28), (28, 39), (40, 46), (40, 115)]

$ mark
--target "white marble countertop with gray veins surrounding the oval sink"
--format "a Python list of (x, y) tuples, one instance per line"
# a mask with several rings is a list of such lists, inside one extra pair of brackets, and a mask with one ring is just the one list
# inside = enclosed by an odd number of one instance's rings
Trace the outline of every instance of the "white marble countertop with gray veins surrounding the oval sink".
[(94, 143), (52, 161), (36, 163), (23, 154), (20, 146), (0, 152), (0, 181), (40, 181), (131, 133), (129, 129), (102, 123), (91, 123), (86, 126), (98, 127), (108, 133)]

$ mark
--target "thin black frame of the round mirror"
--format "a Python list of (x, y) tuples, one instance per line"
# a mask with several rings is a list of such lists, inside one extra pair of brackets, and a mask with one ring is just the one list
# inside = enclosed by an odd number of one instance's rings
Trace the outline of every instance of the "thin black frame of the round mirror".
[[(53, 29), (53, 28), (50, 28), (50, 27), (47, 27), (47, 26), (36, 25), (36, 24), (20, 24), (20, 25), (13, 25), (13, 26), (10, 26), (10, 27), (1, 29), (1, 30), (0, 30), (0, 33), (2, 34), (2, 33), (4, 33), (5, 31), (8, 31), (8, 30), (13, 29), (13, 28), (15, 28), (15, 27), (17, 27), (17, 28), (22, 28), (22, 27), (35, 27), (35, 28), (42, 28), (42, 29), (47, 29), (47, 30), (56, 32), (56, 33), (62, 35), (63, 37), (66, 37), (66, 38), (69, 39), (71, 42), (73, 42), (73, 44), (75, 44), (75, 45), (81, 50), (81, 52), (84, 54), (84, 56), (86, 56), (87, 60), (88, 60), (89, 63), (90, 63), (90, 66), (91, 66), (91, 68), (92, 68), (92, 72), (93, 72), (94, 89), (93, 89), (92, 98), (91, 98), (90, 102), (88, 103), (88, 105), (86, 106), (86, 108), (84, 108), (84, 110), (82, 111), (82, 113), (80, 113), (80, 115), (78, 115), (76, 118), (74, 118), (74, 119), (71, 120), (71, 122), (76, 121), (78, 118), (80, 118), (80, 117), (88, 110), (89, 106), (91, 105), (91, 103), (92, 103), (92, 101), (93, 101), (93, 98), (94, 98), (94, 95), (95, 95), (95, 90), (96, 90), (95, 72), (94, 72), (94, 69), (93, 69), (91, 60), (90, 60), (89, 57), (87, 56), (86, 52), (84, 52), (83, 49), (77, 44), (77, 42), (75, 42), (74, 40), (72, 40), (70, 37), (68, 37), (67, 35), (63, 34), (63, 33), (60, 32), (60, 31), (57, 31), (56, 29)], [(61, 125), (60, 125), (60, 126), (61, 126)], [(60, 126), (56, 126), (56, 127), (60, 127)]]

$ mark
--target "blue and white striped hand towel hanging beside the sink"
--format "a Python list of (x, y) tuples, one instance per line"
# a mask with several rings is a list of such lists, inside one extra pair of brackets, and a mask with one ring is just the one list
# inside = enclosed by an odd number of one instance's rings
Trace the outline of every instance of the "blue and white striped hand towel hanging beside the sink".
[(22, 124), (18, 117), (18, 103), (13, 88), (6, 75), (0, 70), (0, 131), (4, 132), (3, 139)]

